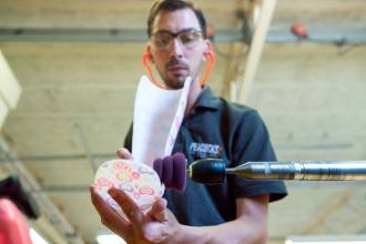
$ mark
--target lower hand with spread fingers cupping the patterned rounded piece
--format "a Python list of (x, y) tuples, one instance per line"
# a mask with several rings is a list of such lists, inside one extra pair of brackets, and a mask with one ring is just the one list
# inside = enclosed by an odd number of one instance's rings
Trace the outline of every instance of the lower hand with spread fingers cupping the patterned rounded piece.
[(166, 200), (157, 200), (148, 213), (143, 213), (126, 193), (118, 189), (109, 190), (109, 194), (128, 216), (125, 220), (108, 205), (92, 186), (90, 192), (101, 222), (129, 244), (174, 243), (173, 236), (179, 232), (180, 224), (166, 209)]

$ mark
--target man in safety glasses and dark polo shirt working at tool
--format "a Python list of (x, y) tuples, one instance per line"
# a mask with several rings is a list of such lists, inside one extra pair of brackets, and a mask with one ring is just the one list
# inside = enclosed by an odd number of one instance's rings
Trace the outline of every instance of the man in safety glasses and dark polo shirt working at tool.
[[(275, 160), (264, 123), (256, 111), (228, 103), (200, 85), (200, 71), (210, 58), (205, 20), (201, 11), (181, 0), (155, 3), (148, 21), (148, 53), (167, 89), (193, 80), (185, 118), (173, 152), (189, 162), (221, 157), (227, 166), (247, 161)], [(131, 149), (130, 131), (125, 146)], [(126, 149), (119, 156), (131, 159)], [(109, 191), (126, 213), (121, 218), (91, 187), (102, 223), (128, 243), (265, 243), (267, 205), (286, 195), (282, 182), (246, 181), (230, 176), (220, 185), (187, 179), (183, 193), (165, 191), (143, 214), (122, 191)], [(166, 206), (167, 205), (167, 206)]]

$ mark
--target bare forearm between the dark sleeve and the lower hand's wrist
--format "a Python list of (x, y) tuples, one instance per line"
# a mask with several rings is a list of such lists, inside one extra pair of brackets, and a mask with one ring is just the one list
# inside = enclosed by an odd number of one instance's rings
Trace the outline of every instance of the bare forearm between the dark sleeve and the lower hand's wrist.
[(258, 226), (256, 222), (237, 218), (214, 226), (186, 226), (181, 225), (172, 243), (221, 244), (245, 243), (262, 244), (266, 242), (266, 223)]

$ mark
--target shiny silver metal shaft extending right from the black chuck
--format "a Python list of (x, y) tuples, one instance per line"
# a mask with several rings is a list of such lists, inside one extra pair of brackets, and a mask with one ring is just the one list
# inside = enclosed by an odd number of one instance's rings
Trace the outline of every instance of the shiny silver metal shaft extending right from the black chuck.
[(362, 181), (366, 180), (366, 161), (247, 162), (225, 173), (250, 180)]

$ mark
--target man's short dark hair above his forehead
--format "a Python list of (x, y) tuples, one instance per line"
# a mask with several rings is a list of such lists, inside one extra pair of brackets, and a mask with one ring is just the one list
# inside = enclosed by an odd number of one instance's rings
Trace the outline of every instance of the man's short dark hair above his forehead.
[(203, 12), (200, 9), (196, 9), (192, 2), (190, 1), (184, 1), (184, 0), (162, 0), (162, 1), (156, 1), (153, 7), (150, 9), (149, 12), (149, 18), (148, 18), (148, 35), (151, 37), (152, 34), (152, 26), (154, 23), (154, 20), (156, 16), (160, 12), (170, 12), (170, 11), (175, 11), (180, 9), (191, 9), (194, 13), (195, 17), (199, 20), (202, 35), (204, 39), (207, 38), (207, 30), (206, 30), (206, 20), (203, 16)]

